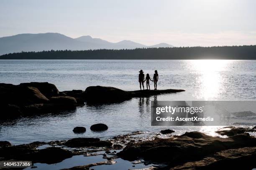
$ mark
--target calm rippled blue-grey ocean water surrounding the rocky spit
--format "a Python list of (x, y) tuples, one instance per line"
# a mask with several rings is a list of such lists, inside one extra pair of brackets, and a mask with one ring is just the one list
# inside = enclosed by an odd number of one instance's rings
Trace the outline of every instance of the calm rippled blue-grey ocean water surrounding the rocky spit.
[[(22, 144), (75, 137), (110, 138), (137, 130), (158, 132), (166, 128), (174, 129), (175, 134), (199, 130), (214, 135), (219, 127), (151, 127), (150, 101), (256, 99), (255, 60), (0, 60), (0, 82), (50, 82), (60, 91), (85, 90), (92, 85), (138, 90), (141, 69), (151, 78), (154, 70), (158, 70), (158, 89), (186, 91), (0, 122), (0, 140)], [(152, 83), (151, 89), (154, 89)], [(109, 129), (91, 132), (90, 126), (98, 122), (107, 124)], [(246, 125), (246, 120), (239, 123)], [(72, 130), (76, 126), (86, 127), (86, 133), (74, 134)]]

